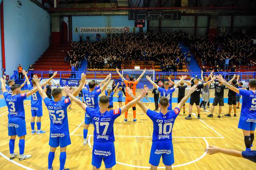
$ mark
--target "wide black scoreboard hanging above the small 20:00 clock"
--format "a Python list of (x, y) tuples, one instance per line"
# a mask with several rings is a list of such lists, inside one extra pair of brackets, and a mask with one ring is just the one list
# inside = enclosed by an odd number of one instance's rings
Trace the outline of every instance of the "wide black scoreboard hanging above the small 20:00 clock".
[(129, 11), (129, 20), (180, 20), (180, 11)]

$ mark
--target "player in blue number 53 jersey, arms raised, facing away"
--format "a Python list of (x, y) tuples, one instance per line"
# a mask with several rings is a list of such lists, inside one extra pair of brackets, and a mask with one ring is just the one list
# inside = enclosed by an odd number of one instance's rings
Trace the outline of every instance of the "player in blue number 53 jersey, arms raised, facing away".
[[(50, 115), (50, 152), (48, 155), (48, 170), (52, 170), (52, 163), (54, 161), (54, 155), (56, 148), (58, 146), (61, 147), (60, 154), (60, 170), (69, 170), (68, 168), (64, 168), (66, 161), (66, 149), (67, 145), (71, 144), (69, 128), (68, 128), (68, 120), (67, 120), (67, 106), (70, 105), (71, 99), (62, 99), (61, 89), (56, 88), (52, 90), (51, 94), (54, 99), (49, 99), (47, 95), (43, 92), (42, 87), (39, 84), (39, 79), (36, 75), (33, 76), (33, 80), (36, 83), (38, 91), (44, 100), (45, 105), (49, 111)], [(85, 83), (85, 75), (81, 77), (80, 85), (74, 90), (74, 96), (77, 96), (81, 88)]]

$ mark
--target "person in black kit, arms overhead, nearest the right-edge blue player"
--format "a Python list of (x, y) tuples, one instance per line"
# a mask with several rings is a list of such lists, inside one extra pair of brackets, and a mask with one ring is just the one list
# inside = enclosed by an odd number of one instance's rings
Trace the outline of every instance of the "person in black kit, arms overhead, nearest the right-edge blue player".
[[(231, 83), (231, 85), (233, 85), (235, 88), (237, 88), (238, 87), (237, 80), (234, 80), (234, 79), (235, 79), (235, 75), (233, 76), (233, 78), (230, 81), (228, 81), (228, 83)], [(234, 109), (234, 117), (236, 117), (236, 92), (228, 89), (228, 106), (229, 106), (228, 114), (226, 114), (224, 116), (231, 117), (230, 113), (232, 110), (232, 105), (233, 105), (233, 109)]]

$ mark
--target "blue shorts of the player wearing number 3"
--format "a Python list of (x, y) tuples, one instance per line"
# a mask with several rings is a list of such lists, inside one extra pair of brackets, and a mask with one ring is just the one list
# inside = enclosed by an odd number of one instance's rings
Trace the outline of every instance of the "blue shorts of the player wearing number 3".
[(27, 134), (26, 121), (23, 118), (15, 117), (8, 119), (8, 136), (17, 135), (18, 137)]

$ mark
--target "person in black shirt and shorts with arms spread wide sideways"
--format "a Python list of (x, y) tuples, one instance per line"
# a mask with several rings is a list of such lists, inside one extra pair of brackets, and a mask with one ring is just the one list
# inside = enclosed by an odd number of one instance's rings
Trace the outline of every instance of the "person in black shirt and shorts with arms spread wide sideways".
[(196, 89), (195, 92), (193, 92), (193, 93), (191, 94), (191, 96), (190, 96), (190, 102), (189, 102), (189, 116), (185, 117), (185, 119), (189, 119), (189, 120), (192, 119), (191, 113), (192, 113), (192, 107), (193, 107), (194, 103), (195, 103), (196, 108), (197, 108), (197, 113), (198, 113), (197, 118), (200, 119), (200, 107), (199, 107), (199, 104), (200, 104), (201, 89), (202, 89), (204, 86), (206, 86), (206, 85), (208, 85), (208, 84), (211, 84), (212, 81), (214, 81), (214, 80), (210, 80), (210, 81), (208, 81), (207, 83), (204, 83), (204, 84), (198, 84), (199, 78), (194, 78), (194, 81), (192, 81), (191, 83), (188, 82), (188, 81), (184, 81), (184, 80), (183, 80), (184, 83), (190, 85), (191, 87), (192, 87), (193, 85), (197, 85), (197, 89)]

